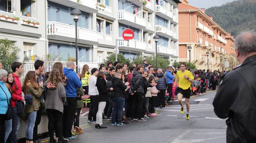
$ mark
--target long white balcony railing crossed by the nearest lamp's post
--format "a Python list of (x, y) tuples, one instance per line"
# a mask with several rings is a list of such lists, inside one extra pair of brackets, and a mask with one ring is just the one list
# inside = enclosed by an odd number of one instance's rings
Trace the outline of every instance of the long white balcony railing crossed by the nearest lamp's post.
[[(75, 26), (63, 24), (59, 22), (48, 22), (47, 24), (47, 34), (48, 35), (59, 35), (65, 37), (76, 38)], [(78, 38), (88, 41), (98, 41), (98, 37), (101, 34), (98, 34), (97, 31), (89, 30), (85, 28), (78, 27)]]

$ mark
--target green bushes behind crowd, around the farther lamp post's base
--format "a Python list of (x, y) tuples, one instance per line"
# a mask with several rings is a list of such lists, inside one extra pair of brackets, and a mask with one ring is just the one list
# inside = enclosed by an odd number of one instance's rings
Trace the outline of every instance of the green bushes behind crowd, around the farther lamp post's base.
[[(138, 56), (133, 59), (133, 64), (142, 64), (143, 60), (147, 60), (148, 64), (151, 64), (153, 67), (156, 65), (156, 57), (155, 56)], [(170, 61), (168, 59), (164, 59), (161, 56), (157, 56), (157, 68), (166, 69), (170, 65)]]

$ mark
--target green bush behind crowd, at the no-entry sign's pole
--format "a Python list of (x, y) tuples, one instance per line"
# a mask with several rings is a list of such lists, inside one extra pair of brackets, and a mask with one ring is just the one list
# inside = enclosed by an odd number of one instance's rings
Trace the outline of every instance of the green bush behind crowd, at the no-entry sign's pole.
[[(103, 63), (107, 65), (108, 62), (115, 62), (116, 61), (116, 54), (112, 53), (110, 56), (106, 57), (107, 60), (103, 60)], [(117, 54), (117, 61), (120, 62), (120, 64), (126, 63), (128, 66), (131, 65), (130, 59), (127, 59), (124, 57), (122, 53)], [(100, 63), (101, 64), (101, 63)]]

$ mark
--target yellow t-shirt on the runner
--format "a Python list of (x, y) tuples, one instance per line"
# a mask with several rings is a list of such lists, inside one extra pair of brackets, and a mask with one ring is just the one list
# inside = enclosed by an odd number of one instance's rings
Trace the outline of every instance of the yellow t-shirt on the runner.
[(187, 75), (187, 77), (189, 79), (194, 79), (194, 76), (193, 74), (188, 71), (188, 70), (185, 70), (184, 72), (181, 72), (181, 71), (178, 71), (177, 74), (176, 74), (176, 77), (177, 79), (179, 79), (179, 87), (186, 90), (188, 88), (191, 87), (191, 82), (188, 81), (187, 79), (184, 78), (184, 75)]

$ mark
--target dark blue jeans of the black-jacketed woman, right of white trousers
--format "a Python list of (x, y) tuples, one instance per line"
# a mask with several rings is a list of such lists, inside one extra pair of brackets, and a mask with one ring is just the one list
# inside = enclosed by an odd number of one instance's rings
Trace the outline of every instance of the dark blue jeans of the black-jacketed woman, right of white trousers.
[(117, 115), (117, 123), (122, 123), (122, 114), (124, 108), (124, 98), (123, 97), (114, 97), (112, 98), (113, 103), (113, 111), (112, 111), (112, 119), (111, 122), (116, 122), (116, 115)]

